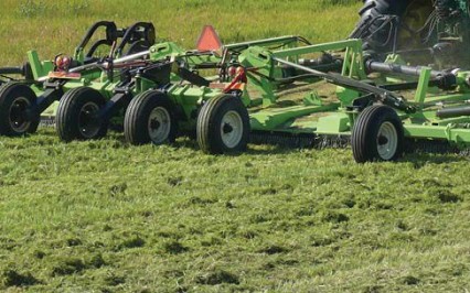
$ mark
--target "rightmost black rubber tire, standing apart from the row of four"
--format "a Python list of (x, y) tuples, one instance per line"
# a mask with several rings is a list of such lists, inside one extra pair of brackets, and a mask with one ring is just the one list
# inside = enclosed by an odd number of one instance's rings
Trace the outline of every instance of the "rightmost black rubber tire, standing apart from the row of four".
[[(394, 129), (396, 134), (396, 148), (392, 146), (392, 153), (387, 156), (380, 154), (380, 140), (385, 137), (378, 137), (382, 126)], [(396, 111), (388, 106), (373, 105), (365, 108), (354, 123), (351, 143), (354, 160), (357, 163), (375, 161), (395, 161), (403, 155), (405, 131)], [(388, 140), (385, 139), (384, 143)], [(394, 150), (395, 149), (395, 150)]]

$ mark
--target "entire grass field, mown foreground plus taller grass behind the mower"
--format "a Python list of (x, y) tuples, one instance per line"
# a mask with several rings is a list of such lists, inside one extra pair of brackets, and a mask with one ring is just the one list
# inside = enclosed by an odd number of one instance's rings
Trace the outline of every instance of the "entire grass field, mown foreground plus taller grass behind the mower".
[[(186, 47), (205, 23), (225, 42), (332, 41), (348, 35), (360, 4), (7, 0), (0, 65), (32, 47), (72, 52), (99, 19), (153, 21)], [(468, 292), (467, 174), (458, 155), (357, 165), (349, 149), (212, 156), (189, 139), (136, 148), (110, 133), (65, 144), (44, 128), (0, 138), (0, 290)]]

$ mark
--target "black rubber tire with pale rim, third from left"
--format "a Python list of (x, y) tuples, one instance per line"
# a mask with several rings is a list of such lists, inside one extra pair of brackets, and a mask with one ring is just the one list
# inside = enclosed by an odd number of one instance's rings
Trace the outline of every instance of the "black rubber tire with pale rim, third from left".
[[(150, 119), (153, 111), (157, 111), (156, 115), (160, 115), (160, 118), (167, 117), (168, 120), (163, 120), (169, 122), (167, 129), (163, 128), (162, 133), (154, 133), (154, 138), (150, 133)], [(157, 128), (160, 128), (161, 122), (157, 119), (153, 121), (158, 122)], [(175, 107), (164, 93), (148, 90), (130, 101), (124, 117), (124, 135), (127, 142), (135, 145), (150, 142), (153, 144), (173, 143), (177, 139), (177, 133)]]

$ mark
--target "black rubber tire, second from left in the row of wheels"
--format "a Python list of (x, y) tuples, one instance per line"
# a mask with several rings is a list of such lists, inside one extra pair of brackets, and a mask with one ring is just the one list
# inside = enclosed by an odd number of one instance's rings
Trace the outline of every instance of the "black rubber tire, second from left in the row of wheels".
[[(103, 95), (89, 87), (77, 87), (65, 93), (61, 98), (55, 117), (58, 138), (70, 142), (105, 137), (108, 131), (108, 121), (99, 121), (94, 117), (105, 104), (106, 99)], [(88, 113), (84, 111), (85, 106), (92, 111)]]

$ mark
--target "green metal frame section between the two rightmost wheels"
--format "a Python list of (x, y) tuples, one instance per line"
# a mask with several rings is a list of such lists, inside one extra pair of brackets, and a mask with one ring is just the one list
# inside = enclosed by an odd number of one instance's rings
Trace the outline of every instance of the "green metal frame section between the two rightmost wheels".
[[(307, 95), (305, 105), (277, 108), (276, 87), (273, 79), (276, 78), (276, 62), (273, 57), (298, 59), (302, 55), (322, 53), (324, 51), (344, 51), (342, 75), (351, 78), (364, 79), (366, 77), (362, 59), (362, 42), (360, 40), (346, 40), (334, 43), (325, 43), (310, 46), (279, 50), (269, 52), (261, 47), (250, 47), (241, 55), (241, 64), (253, 68), (248, 74), (248, 85), (260, 93), (263, 109), (250, 112), (252, 129), (256, 131), (281, 131), (291, 133), (318, 133), (344, 132), (349, 130), (346, 113), (337, 112), (340, 108), (349, 106), (359, 97), (359, 93), (338, 87), (339, 100), (335, 102), (322, 102), (316, 99), (316, 105), (310, 105), (311, 97), (318, 97), (316, 93)], [(259, 98), (252, 98), (250, 106), (259, 105)], [(309, 105), (309, 106), (306, 106)], [(335, 111), (335, 112), (333, 112)], [(314, 113), (329, 112), (330, 116), (314, 119), (305, 119)]]

